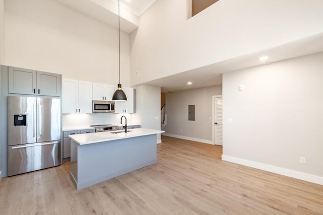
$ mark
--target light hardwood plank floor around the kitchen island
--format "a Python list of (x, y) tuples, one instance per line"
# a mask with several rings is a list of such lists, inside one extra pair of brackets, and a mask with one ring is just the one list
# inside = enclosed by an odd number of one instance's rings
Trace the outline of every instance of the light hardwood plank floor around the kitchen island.
[(158, 163), (76, 191), (70, 164), (3, 178), (1, 214), (323, 214), (323, 186), (163, 136)]

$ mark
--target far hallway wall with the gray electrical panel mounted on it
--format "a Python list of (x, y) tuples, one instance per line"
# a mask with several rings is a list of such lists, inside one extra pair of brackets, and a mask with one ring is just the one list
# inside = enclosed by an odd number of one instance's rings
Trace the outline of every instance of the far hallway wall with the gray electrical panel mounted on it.
[[(222, 95), (222, 86), (166, 93), (165, 134), (212, 144), (212, 96)], [(195, 105), (195, 121), (188, 120), (188, 105)]]

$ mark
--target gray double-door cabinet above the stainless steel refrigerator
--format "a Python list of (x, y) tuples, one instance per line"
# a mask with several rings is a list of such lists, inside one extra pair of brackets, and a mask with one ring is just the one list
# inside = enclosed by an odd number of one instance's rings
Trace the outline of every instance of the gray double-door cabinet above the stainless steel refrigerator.
[(61, 75), (9, 66), (9, 93), (61, 96)]

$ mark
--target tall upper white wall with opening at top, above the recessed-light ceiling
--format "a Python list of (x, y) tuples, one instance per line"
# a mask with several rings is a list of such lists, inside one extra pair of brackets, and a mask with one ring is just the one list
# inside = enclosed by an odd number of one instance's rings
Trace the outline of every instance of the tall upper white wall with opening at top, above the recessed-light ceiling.
[(221, 0), (188, 20), (187, 3), (157, 0), (140, 17), (132, 85), (323, 32), (323, 1)]

